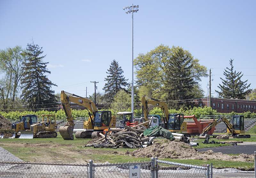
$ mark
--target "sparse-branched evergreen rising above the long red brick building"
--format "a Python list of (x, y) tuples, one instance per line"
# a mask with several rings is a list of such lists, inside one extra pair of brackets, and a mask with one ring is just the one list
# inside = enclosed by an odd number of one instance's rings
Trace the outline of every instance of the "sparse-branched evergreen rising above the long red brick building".
[(236, 72), (234, 71), (233, 67), (233, 61), (234, 59), (230, 59), (230, 66), (231, 68), (225, 69), (225, 72), (223, 73), (226, 76), (226, 80), (221, 79), (222, 85), (219, 84), (218, 88), (221, 91), (215, 90), (220, 98), (237, 98), (237, 99), (245, 99), (246, 95), (250, 94), (252, 89), (248, 89), (251, 85), (247, 85), (247, 81), (242, 82), (241, 77), (244, 75), (242, 72)]

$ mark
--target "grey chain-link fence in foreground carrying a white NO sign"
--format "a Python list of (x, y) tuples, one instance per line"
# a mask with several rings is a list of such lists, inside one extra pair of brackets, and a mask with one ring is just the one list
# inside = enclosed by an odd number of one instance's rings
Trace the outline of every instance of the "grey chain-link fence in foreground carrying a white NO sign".
[[(137, 170), (136, 170), (137, 168)], [(152, 158), (132, 163), (44, 163), (0, 161), (0, 178), (210, 178), (209, 167), (186, 165)]]

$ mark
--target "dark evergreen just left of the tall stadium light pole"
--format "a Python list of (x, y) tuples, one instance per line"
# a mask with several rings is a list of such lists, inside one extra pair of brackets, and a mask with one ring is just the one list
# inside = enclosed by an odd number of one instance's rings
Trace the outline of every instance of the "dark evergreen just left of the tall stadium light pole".
[(105, 91), (105, 99), (108, 103), (111, 103), (114, 99), (114, 96), (117, 94), (118, 91), (124, 90), (128, 93), (126, 87), (128, 86), (128, 83), (126, 82), (128, 79), (125, 79), (124, 71), (121, 67), (119, 67), (118, 62), (116, 60), (113, 60), (111, 62), (111, 65), (108, 69), (108, 72), (106, 72), (107, 78), (105, 78), (105, 86), (103, 90)]

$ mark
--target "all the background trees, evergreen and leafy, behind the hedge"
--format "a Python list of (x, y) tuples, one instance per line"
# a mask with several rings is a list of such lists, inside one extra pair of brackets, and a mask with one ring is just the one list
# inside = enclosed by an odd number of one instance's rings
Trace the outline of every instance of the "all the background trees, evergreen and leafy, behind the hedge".
[[(55, 110), (60, 94), (51, 89), (57, 86), (46, 74), (49, 62), (44, 62), (42, 47), (34, 42), (26, 49), (21, 46), (0, 50), (0, 110), (15, 109)], [(231, 68), (224, 71), (225, 79), (216, 92), (221, 98), (255, 99), (256, 89), (241, 81), (241, 72), (236, 72), (230, 59)], [(199, 82), (208, 77), (207, 68), (180, 46), (161, 44), (150, 52), (140, 53), (134, 59), (136, 81), (134, 86), (134, 109), (140, 109), (143, 95), (164, 101), (170, 109), (196, 107), (193, 98), (204, 97)], [(104, 109), (131, 111), (131, 87), (115, 59), (106, 71), (104, 93), (97, 93), (96, 104)], [(89, 98), (94, 101), (95, 93)]]

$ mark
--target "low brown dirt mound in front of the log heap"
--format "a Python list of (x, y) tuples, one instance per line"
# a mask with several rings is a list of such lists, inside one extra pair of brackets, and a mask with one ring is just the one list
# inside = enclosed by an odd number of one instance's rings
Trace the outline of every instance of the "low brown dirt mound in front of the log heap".
[[(167, 142), (167, 143), (166, 143)], [(184, 160), (228, 160), (228, 161), (242, 161), (253, 162), (254, 155), (240, 154), (239, 156), (230, 156), (222, 153), (214, 153), (212, 150), (205, 152), (198, 152), (195, 147), (180, 142), (180, 141), (161, 141), (154, 140), (154, 144), (146, 148), (140, 148), (133, 152), (127, 150), (125, 155), (134, 157), (158, 157), (170, 159), (184, 159)]]

